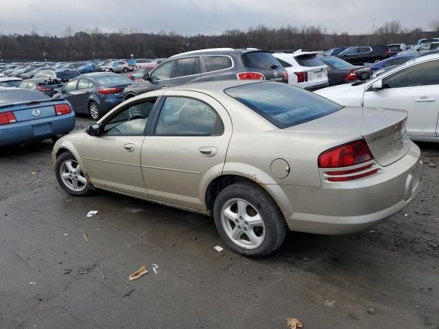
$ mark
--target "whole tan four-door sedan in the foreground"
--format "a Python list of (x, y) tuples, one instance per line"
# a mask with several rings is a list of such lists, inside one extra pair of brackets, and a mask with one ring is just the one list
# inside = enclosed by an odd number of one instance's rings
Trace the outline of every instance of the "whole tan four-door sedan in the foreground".
[(287, 229), (363, 230), (420, 187), (407, 113), (343, 107), (278, 82), (223, 81), (121, 103), (54, 146), (67, 193), (94, 188), (213, 215), (236, 252), (274, 252)]

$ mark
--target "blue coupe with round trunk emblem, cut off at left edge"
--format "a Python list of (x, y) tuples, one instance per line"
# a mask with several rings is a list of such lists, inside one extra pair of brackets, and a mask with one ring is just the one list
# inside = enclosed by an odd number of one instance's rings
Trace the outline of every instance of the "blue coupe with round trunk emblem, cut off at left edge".
[(75, 127), (65, 99), (36, 90), (0, 88), (0, 146), (58, 138)]

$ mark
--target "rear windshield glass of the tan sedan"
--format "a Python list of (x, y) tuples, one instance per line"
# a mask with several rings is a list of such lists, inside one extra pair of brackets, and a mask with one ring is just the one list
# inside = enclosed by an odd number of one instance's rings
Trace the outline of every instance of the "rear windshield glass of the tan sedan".
[(307, 90), (278, 82), (244, 84), (224, 90), (280, 128), (311, 121), (342, 106)]

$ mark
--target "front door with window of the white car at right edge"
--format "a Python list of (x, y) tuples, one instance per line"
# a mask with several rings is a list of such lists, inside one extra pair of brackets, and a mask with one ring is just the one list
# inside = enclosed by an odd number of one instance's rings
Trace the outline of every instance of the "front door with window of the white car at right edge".
[(382, 82), (382, 90), (364, 93), (364, 106), (406, 110), (409, 136), (439, 136), (439, 60), (414, 64)]

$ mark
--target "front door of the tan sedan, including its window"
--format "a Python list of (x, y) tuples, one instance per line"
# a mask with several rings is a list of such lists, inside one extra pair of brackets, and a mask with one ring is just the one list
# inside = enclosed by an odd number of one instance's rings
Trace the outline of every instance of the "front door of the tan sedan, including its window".
[(93, 185), (147, 197), (141, 171), (141, 149), (155, 102), (156, 98), (129, 103), (101, 123), (102, 134), (86, 134), (82, 157)]

